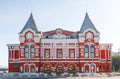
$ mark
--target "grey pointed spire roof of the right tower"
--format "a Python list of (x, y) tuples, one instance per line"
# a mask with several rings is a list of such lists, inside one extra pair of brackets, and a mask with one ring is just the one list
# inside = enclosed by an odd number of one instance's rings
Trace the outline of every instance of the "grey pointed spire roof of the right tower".
[(85, 19), (84, 19), (83, 24), (80, 29), (80, 33), (83, 33), (85, 30), (87, 30), (89, 28), (94, 30), (96, 33), (99, 33), (97, 31), (97, 29), (95, 28), (94, 24), (92, 23), (92, 21), (90, 20), (88, 13), (86, 13)]

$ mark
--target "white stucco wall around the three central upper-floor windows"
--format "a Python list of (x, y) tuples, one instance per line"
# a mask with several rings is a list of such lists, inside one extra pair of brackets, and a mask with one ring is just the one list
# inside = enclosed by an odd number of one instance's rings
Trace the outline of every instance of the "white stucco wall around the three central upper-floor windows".
[[(77, 39), (41, 39), (41, 42), (44, 43), (50, 43), (50, 45), (42, 45), (41, 49), (41, 56), (44, 58), (44, 49), (45, 48), (50, 48), (50, 58), (55, 58), (56, 59), (56, 50), (57, 49), (62, 49), (63, 53), (63, 59), (66, 59), (69, 57), (69, 49), (75, 49), (75, 58), (78, 56), (78, 48), (77, 48)], [(69, 43), (73, 43), (70, 44)], [(53, 45), (52, 45), (53, 44)]]

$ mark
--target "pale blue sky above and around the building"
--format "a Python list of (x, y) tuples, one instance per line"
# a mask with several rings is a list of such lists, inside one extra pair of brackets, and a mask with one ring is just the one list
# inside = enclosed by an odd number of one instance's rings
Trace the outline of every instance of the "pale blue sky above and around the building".
[(100, 43), (120, 48), (120, 0), (0, 0), (0, 67), (8, 66), (6, 44), (18, 44), (18, 33), (33, 13), (40, 31), (79, 31), (85, 13), (101, 33)]

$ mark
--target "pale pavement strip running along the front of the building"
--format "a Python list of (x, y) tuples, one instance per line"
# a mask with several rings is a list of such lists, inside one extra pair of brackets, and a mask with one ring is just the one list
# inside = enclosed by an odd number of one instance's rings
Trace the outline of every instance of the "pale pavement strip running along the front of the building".
[(73, 76), (73, 77), (57, 77), (57, 78), (48, 78), (48, 77), (11, 77), (4, 76), (0, 74), (0, 79), (120, 79), (120, 73), (112, 73), (106, 75), (98, 76)]

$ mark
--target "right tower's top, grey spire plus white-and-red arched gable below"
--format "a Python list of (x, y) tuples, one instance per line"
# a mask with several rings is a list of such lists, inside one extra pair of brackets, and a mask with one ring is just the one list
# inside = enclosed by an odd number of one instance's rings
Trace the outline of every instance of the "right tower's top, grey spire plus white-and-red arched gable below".
[(94, 24), (86, 13), (85, 19), (79, 31), (79, 41), (84, 42), (87, 40), (99, 42), (99, 34), (99, 31), (95, 28)]

